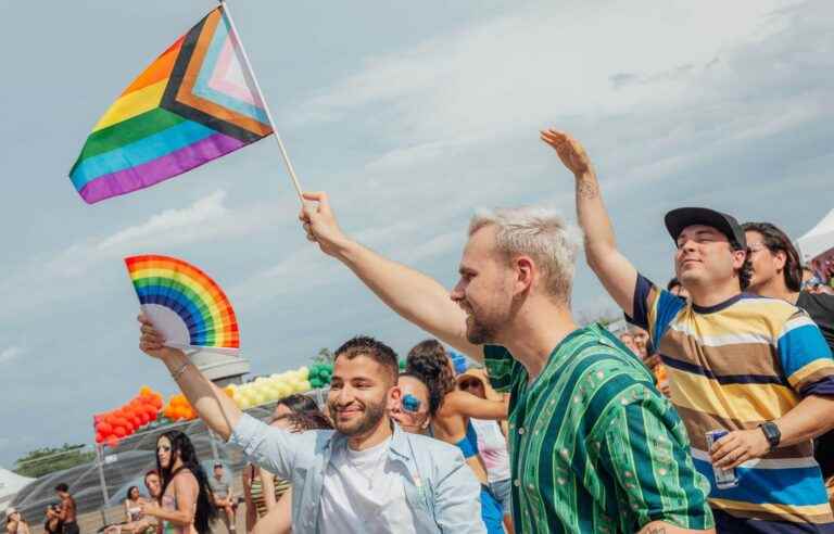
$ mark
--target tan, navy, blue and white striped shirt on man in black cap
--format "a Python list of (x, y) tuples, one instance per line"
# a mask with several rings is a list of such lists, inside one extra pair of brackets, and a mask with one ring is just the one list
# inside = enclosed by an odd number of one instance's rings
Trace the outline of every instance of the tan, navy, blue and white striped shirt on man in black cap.
[(834, 529), (810, 440), (743, 463), (738, 485), (719, 490), (705, 436), (716, 429), (755, 429), (806, 395), (834, 394), (834, 359), (808, 314), (744, 293), (702, 307), (640, 276), (632, 320), (648, 330), (667, 365), (695, 467), (712, 485), (710, 505), (760, 532)]

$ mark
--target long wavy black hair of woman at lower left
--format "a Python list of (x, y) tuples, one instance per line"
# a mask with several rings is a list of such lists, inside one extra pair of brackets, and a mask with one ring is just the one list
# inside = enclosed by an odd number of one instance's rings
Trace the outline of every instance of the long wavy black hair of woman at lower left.
[(172, 470), (172, 466), (177, 458), (182, 462), (181, 469), (191, 471), (191, 474), (197, 479), (199, 492), (197, 494), (197, 513), (194, 514), (194, 529), (200, 534), (207, 534), (212, 531), (211, 522), (217, 517), (217, 509), (212, 503), (212, 490), (208, 486), (208, 478), (205, 475), (205, 471), (200, 466), (200, 460), (197, 458), (197, 452), (194, 450), (191, 440), (186, 434), (178, 430), (169, 430), (160, 437), (156, 438), (156, 443), (160, 440), (166, 437), (170, 442), (170, 465), (167, 468), (163, 468), (160, 463), (160, 456), (156, 455), (156, 471), (162, 478), (162, 492), (160, 498), (165, 495), (165, 491), (168, 488), (168, 484), (174, 480), (174, 476), (179, 470)]

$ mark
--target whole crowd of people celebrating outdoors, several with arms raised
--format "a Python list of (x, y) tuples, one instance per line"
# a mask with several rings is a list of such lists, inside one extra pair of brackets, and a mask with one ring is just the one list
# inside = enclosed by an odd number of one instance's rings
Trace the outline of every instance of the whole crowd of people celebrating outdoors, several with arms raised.
[[(323, 411), (292, 396), (269, 423), (242, 412), (139, 317), (140, 348), (250, 462), (247, 532), (834, 532), (821, 274), (772, 223), (681, 207), (665, 217), (673, 278), (658, 285), (617, 246), (582, 145), (541, 138), (573, 175), (580, 228), (538, 206), (479, 212), (451, 293), (351, 239), (326, 193), (304, 194), (307, 239), (434, 336), (402, 372), (386, 343), (346, 341)], [(573, 319), (582, 245), (630, 325), (619, 334)], [(217, 517), (235, 531), (222, 465), (207, 478), (176, 431), (156, 456), (151, 498), (131, 487), (114, 531), (202, 534)], [(74, 512), (56, 513), (70, 532)], [(13, 517), (8, 531), (26, 532)]]

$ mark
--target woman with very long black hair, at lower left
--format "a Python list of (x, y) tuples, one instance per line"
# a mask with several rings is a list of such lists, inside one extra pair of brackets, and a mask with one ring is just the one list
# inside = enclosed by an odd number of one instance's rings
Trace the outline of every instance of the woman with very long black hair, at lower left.
[(207, 534), (216, 516), (208, 478), (186, 434), (169, 430), (156, 440), (156, 470), (162, 476), (160, 503), (143, 504), (147, 516), (162, 521), (165, 534)]

